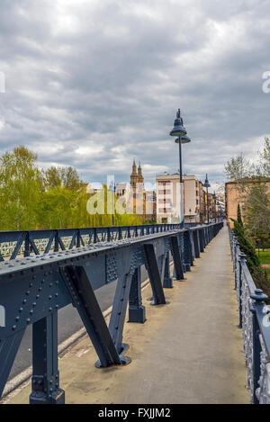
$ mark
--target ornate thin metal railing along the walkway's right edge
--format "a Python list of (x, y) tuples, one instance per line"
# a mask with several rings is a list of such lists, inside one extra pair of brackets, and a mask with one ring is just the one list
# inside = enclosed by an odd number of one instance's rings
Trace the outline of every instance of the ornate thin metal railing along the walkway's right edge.
[(246, 255), (241, 252), (238, 238), (230, 227), (229, 244), (250, 401), (254, 404), (270, 404), (270, 308), (265, 303), (267, 296), (257, 289), (247, 268)]

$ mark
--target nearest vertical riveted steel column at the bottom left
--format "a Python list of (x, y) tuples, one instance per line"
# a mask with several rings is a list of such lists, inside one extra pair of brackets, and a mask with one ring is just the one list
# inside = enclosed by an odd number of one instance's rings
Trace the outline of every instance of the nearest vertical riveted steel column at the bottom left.
[(59, 388), (58, 314), (35, 322), (32, 327), (32, 379), (30, 404), (63, 404)]

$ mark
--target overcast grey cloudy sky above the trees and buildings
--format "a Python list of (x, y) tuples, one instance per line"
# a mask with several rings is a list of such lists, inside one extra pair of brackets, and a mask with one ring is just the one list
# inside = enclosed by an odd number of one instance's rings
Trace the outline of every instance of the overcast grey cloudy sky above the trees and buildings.
[(85, 182), (127, 180), (136, 157), (151, 182), (179, 168), (180, 107), (184, 171), (224, 180), (224, 162), (256, 157), (270, 133), (269, 12), (269, 0), (2, 0), (0, 153), (25, 145)]

